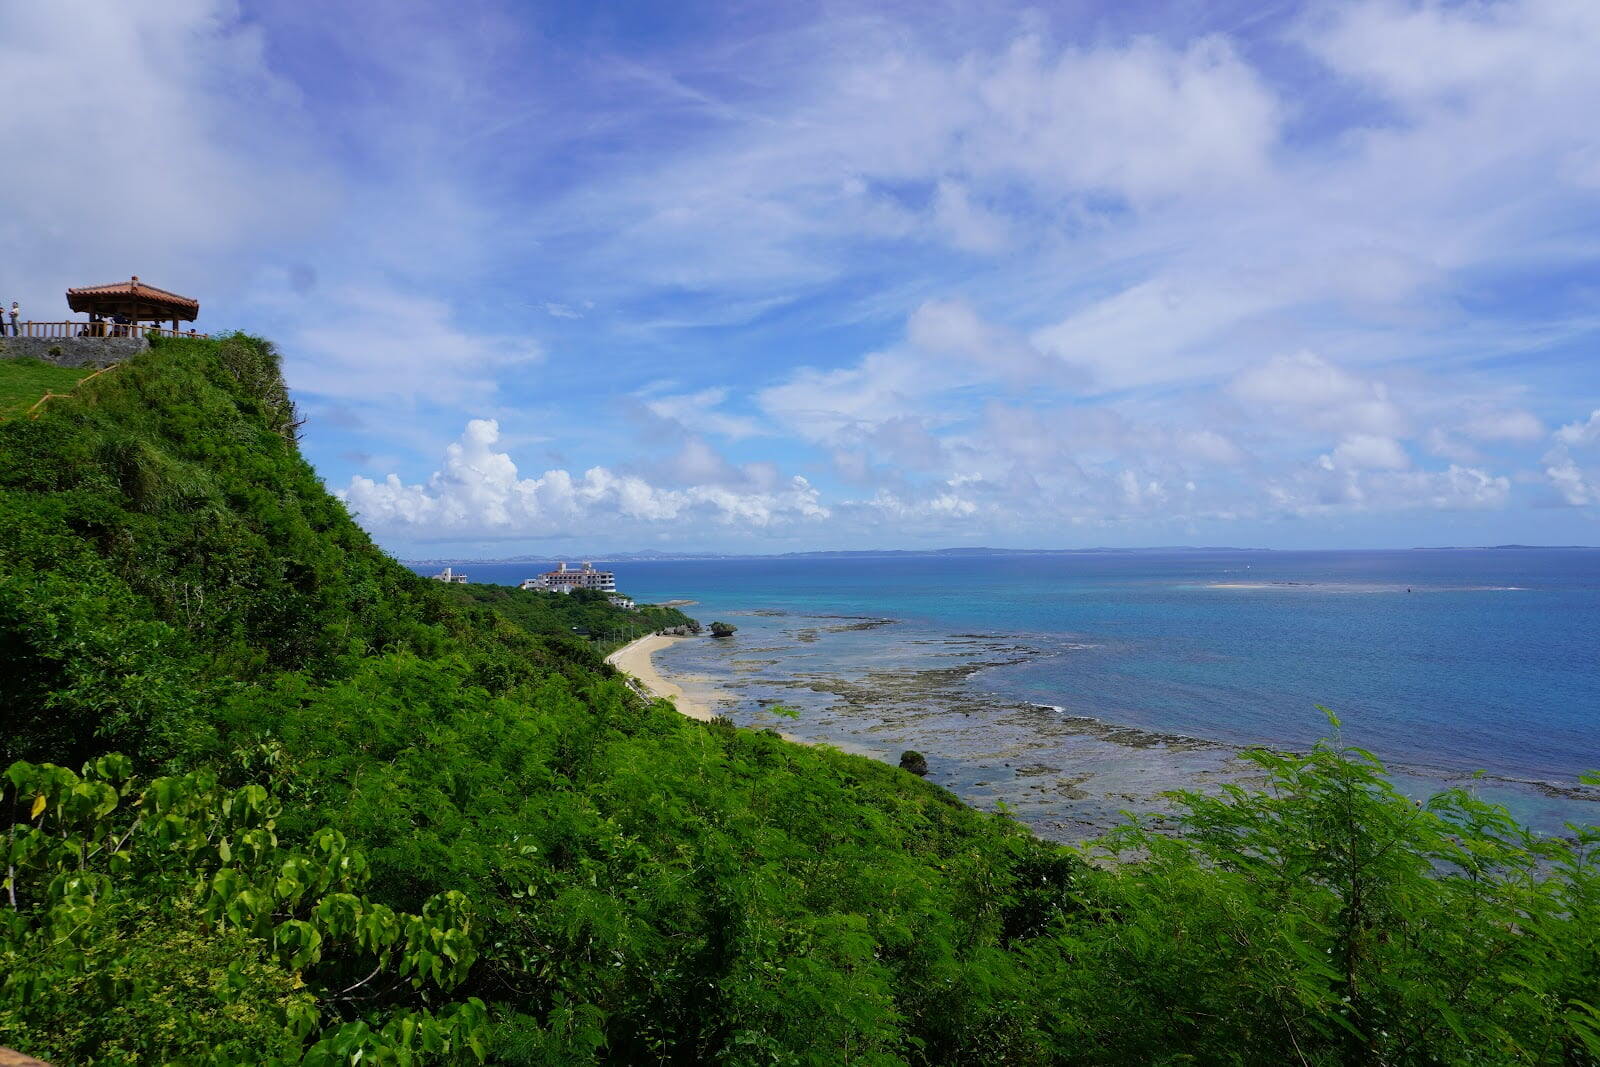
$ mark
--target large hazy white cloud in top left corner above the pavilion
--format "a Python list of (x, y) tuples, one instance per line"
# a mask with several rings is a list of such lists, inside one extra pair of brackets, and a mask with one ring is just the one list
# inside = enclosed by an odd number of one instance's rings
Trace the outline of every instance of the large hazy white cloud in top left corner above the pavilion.
[(0, 291), (37, 317), (130, 274), (205, 314), (240, 248), (328, 222), (299, 93), (230, 0), (6, 3), (0, 42)]

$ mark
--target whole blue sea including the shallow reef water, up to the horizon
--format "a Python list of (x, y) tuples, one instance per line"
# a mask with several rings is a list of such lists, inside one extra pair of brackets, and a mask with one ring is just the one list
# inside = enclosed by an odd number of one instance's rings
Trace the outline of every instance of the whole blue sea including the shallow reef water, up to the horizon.
[[(598, 561), (597, 561), (598, 563)], [(462, 563), (514, 582), (541, 565)], [(430, 571), (437, 568), (418, 568)], [(1600, 822), (1600, 550), (1078, 552), (616, 563), (726, 641), (661, 669), (725, 710), (893, 758), (1082, 835), (1230, 752), (1330, 733), (1418, 792), (1477, 784), (1544, 827)], [(800, 717), (779, 721), (773, 701)], [(1214, 742), (1214, 744), (1208, 744)]]

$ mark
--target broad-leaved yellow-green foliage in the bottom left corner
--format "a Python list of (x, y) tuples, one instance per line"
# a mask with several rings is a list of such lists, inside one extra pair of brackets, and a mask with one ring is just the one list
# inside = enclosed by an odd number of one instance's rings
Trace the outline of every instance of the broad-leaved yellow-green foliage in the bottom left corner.
[(395, 912), (357, 896), (366, 864), (342, 833), (282, 846), (261, 785), (131, 771), (18, 761), (0, 784), (0, 1038), (74, 1064), (483, 1059), (482, 1003), (432, 1011), (422, 992), (477, 958), (461, 894)]

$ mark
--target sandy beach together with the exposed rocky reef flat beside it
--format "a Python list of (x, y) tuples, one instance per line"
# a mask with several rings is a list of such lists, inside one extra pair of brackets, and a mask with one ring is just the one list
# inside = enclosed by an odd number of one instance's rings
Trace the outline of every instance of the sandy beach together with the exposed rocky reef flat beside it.
[[(870, 629), (878, 629), (891, 621), (872, 622), (877, 625)], [(861, 673), (854, 677), (850, 670), (818, 670), (816, 664), (800, 669), (787, 662), (787, 653), (810, 648), (821, 633), (858, 629), (869, 627), (802, 629), (789, 635), (798, 643), (763, 633), (763, 640), (778, 638), (779, 645), (741, 649), (744, 661), (734, 656), (731, 665), (736, 677), (728, 680), (658, 669), (654, 653), (685, 640), (677, 635), (638, 638), (606, 656), (606, 662), (629, 677), (635, 691), (667, 699), (677, 712), (698, 721), (726, 715), (739, 726), (776, 729), (786, 741), (824, 745), (890, 765), (896, 752), (923, 752), (933, 765), (928, 781), (981, 811), (995, 809), (1003, 801), (1014, 817), (1048, 840), (1098, 837), (1118, 825), (1128, 811), (1162, 819), (1171, 814), (1170, 790), (1210, 792), (1227, 782), (1245, 784), (1259, 774), (1240, 760), (1240, 753), (1253, 747), (1250, 744), (1154, 731), (1074, 713), (1066, 705), (1013, 701), (981, 686), (968, 688), (966, 683), (987, 669), (1016, 662), (1019, 654), (1037, 654), (1018, 646), (1016, 635), (947, 635), (946, 641), (979, 645), (963, 654), (970, 662), (960, 665), (922, 656), (917, 664), (875, 664), (875, 669), (854, 672)], [(806, 712), (805, 720), (792, 726), (763, 721), (763, 709), (773, 702), (798, 705)], [(1386, 766), (1397, 784), (1406, 782), (1406, 792), (1416, 795), (1469, 784), (1488, 785), (1493, 792), (1486, 798), (1512, 808), (1520, 821), (1542, 833), (1560, 833), (1558, 825), (1571, 817), (1584, 821), (1573, 809), (1574, 803), (1600, 801), (1597, 790), (1557, 782), (1493, 773), (1474, 774), (1467, 782), (1461, 771), (1445, 768), (1405, 761), (1386, 761)]]

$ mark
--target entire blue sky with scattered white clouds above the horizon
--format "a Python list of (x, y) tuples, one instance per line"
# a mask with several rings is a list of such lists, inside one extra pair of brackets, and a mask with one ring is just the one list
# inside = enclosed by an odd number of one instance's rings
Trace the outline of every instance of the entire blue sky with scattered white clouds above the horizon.
[(0, 299), (274, 338), (403, 555), (1597, 544), (1597, 54), (1592, 0), (0, 3)]

